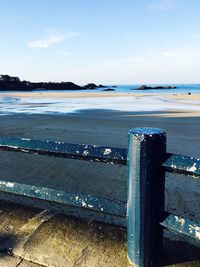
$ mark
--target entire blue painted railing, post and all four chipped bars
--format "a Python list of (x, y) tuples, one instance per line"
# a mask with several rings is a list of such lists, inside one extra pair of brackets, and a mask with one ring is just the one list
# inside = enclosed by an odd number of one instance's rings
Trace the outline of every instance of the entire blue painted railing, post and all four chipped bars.
[(127, 203), (7, 180), (0, 180), (0, 191), (126, 217), (128, 259), (134, 266), (156, 265), (164, 229), (200, 241), (199, 222), (164, 211), (165, 173), (200, 178), (200, 160), (167, 153), (166, 134), (161, 129), (131, 130), (128, 150), (4, 137), (0, 137), (0, 150), (128, 165)]

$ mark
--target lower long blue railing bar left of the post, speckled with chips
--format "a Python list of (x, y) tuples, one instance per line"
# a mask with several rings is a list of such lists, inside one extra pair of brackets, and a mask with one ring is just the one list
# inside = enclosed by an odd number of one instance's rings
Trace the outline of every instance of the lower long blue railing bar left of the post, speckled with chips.
[(71, 193), (52, 188), (0, 180), (0, 191), (60, 204), (85, 208), (96, 212), (126, 217), (126, 202), (82, 193)]

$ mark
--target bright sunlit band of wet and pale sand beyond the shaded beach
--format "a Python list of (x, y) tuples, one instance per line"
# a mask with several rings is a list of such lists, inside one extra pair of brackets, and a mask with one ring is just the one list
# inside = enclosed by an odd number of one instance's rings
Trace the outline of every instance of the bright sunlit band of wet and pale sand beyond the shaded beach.
[[(0, 115), (57, 114), (91, 110), (150, 112), (151, 116), (190, 117), (200, 114), (200, 94), (123, 92), (1, 92)], [(155, 113), (155, 114), (154, 114)]]

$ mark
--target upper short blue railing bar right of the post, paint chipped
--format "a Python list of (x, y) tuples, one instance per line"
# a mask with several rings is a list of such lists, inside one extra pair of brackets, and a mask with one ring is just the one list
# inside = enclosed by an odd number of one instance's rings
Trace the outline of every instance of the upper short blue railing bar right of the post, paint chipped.
[(200, 159), (167, 153), (162, 166), (167, 172), (200, 178)]

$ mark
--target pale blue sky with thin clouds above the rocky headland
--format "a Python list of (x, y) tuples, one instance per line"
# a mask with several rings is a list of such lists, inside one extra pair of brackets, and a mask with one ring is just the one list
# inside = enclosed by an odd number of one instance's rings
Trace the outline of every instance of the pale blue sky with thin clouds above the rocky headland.
[(0, 0), (0, 74), (200, 83), (200, 1)]

